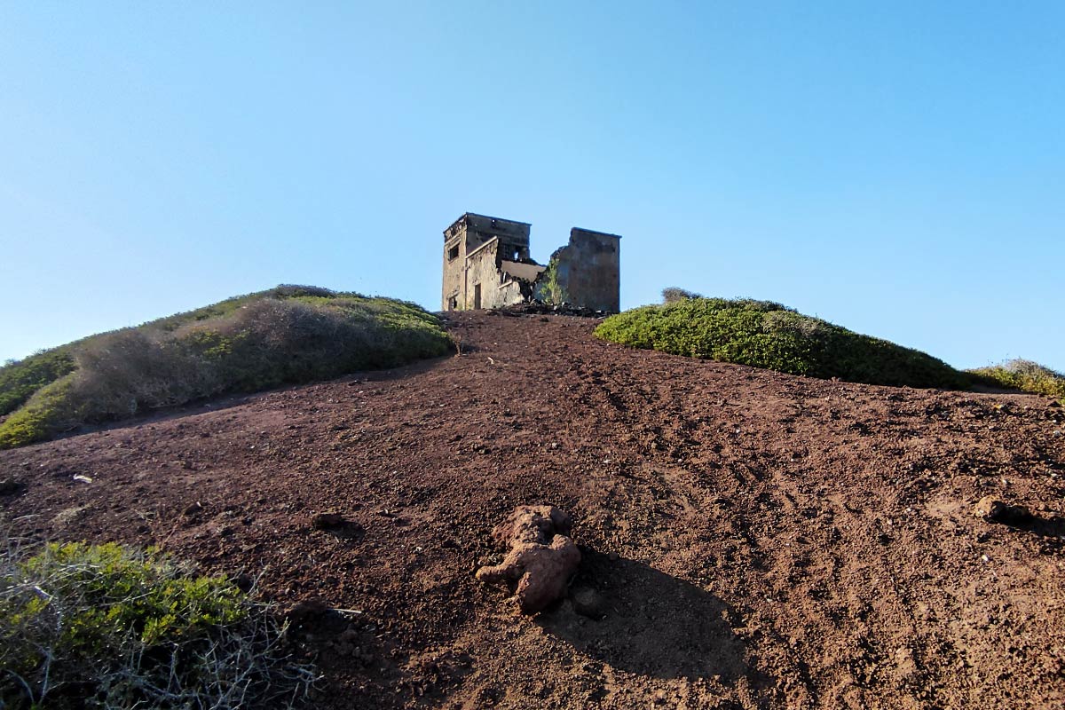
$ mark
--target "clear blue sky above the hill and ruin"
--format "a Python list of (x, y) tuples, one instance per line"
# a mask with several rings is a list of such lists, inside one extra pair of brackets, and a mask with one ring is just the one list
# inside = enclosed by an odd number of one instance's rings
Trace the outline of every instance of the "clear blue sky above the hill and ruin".
[(463, 212), (1065, 370), (1065, 3), (0, 3), (0, 360), (278, 283), (440, 308)]

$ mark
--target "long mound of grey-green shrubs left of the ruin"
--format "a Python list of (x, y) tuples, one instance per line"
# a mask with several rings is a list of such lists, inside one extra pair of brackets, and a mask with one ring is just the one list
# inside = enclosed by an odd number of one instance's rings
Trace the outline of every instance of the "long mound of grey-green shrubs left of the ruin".
[(220, 394), (394, 367), (449, 348), (439, 319), (413, 303), (279, 286), (0, 368), (0, 402), (12, 412), (0, 423), (0, 449)]

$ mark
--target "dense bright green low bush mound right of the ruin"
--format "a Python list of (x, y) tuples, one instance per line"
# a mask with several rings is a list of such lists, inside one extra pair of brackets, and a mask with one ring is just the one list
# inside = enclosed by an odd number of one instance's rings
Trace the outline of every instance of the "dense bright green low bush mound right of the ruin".
[(603, 340), (673, 354), (851, 382), (965, 389), (940, 360), (772, 301), (684, 297), (604, 320)]

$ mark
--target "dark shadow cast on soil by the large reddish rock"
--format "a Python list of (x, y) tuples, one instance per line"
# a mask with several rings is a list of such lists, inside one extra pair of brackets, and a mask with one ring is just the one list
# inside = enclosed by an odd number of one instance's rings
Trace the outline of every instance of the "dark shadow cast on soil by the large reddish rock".
[(641, 562), (581, 551), (572, 598), (537, 617), (544, 631), (591, 658), (644, 676), (718, 676), (731, 683), (754, 674), (723, 601)]

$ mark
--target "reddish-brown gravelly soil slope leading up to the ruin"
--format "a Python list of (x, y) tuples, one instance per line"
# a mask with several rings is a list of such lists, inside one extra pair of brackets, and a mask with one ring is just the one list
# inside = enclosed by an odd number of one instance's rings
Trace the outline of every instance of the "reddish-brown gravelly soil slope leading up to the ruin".
[[(1065, 705), (1061, 408), (594, 325), (462, 314), (461, 357), (0, 452), (27, 484), (0, 506), (321, 601), (296, 616), (322, 707)], [(981, 519), (986, 495), (1036, 517)], [(531, 618), (474, 578), (521, 503), (571, 513), (584, 552), (576, 600)]]

